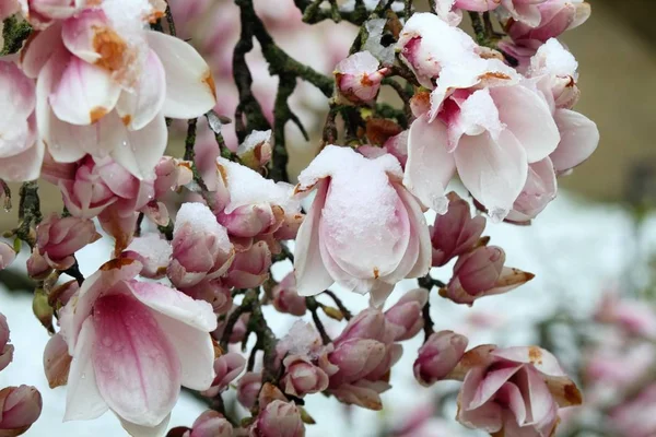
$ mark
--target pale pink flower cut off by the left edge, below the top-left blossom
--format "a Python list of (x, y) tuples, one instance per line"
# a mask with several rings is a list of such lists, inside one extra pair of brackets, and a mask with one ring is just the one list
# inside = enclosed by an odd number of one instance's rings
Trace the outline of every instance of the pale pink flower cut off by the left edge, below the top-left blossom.
[(0, 60), (0, 179), (38, 178), (44, 144), (36, 138), (34, 82), (13, 62)]

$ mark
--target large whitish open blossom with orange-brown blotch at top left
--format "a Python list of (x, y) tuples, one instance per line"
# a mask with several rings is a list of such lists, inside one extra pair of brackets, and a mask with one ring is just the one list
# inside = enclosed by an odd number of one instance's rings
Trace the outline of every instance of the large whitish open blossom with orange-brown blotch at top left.
[(22, 67), (38, 78), (39, 135), (55, 161), (110, 155), (136, 177), (153, 178), (167, 143), (164, 118), (198, 117), (214, 106), (200, 55), (147, 28), (162, 12), (147, 0), (104, 1), (52, 24), (24, 49)]

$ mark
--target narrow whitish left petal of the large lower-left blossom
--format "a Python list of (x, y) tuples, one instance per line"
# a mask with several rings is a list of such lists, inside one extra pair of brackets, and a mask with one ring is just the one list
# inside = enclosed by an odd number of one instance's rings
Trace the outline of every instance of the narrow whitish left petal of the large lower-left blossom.
[[(91, 318), (82, 324), (80, 339), (73, 351), (73, 361), (68, 376), (65, 421), (84, 421), (102, 416), (107, 404), (96, 385), (92, 363), (92, 347), (98, 341)], [(70, 343), (69, 343), (70, 345)]]

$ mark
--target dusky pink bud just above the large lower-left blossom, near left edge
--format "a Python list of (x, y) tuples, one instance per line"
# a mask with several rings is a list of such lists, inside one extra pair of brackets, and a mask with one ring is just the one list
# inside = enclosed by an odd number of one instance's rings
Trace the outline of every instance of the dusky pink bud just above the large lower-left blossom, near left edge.
[(37, 277), (50, 269), (71, 268), (75, 262), (73, 255), (99, 238), (91, 220), (52, 213), (36, 227), (36, 247), (27, 260), (30, 275)]

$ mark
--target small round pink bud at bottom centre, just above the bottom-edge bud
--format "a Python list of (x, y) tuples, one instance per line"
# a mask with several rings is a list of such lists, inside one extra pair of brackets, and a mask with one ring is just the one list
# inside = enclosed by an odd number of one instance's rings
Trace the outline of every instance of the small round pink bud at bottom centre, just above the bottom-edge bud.
[(285, 374), (281, 383), (285, 393), (303, 398), (305, 394), (317, 393), (328, 388), (328, 375), (312, 364), (309, 358), (289, 355), (282, 364)]

